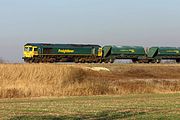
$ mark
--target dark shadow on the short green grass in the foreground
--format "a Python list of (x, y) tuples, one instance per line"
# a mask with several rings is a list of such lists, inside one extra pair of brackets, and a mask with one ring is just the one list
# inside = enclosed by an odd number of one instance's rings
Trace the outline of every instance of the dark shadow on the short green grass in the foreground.
[(65, 115), (65, 116), (16, 116), (10, 120), (84, 120), (84, 119), (95, 119), (95, 120), (114, 120), (124, 118), (134, 118), (146, 114), (145, 112), (117, 112), (117, 111), (103, 111), (96, 114), (88, 115)]

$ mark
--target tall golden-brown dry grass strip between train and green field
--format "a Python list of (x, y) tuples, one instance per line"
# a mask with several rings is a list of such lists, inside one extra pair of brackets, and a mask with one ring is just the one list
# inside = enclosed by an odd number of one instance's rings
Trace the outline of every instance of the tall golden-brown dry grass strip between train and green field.
[[(0, 64), (0, 98), (180, 91), (180, 66)], [(96, 65), (90, 65), (91, 67)]]

